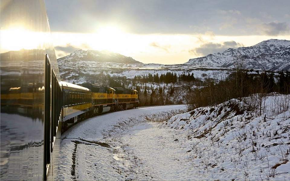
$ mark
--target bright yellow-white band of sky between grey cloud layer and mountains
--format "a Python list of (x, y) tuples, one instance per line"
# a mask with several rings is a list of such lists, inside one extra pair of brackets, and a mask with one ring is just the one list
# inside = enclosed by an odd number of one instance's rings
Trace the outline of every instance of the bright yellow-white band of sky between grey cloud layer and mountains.
[[(105, 50), (132, 57), (142, 63), (159, 64), (180, 64), (191, 58), (203, 57), (205, 55), (191, 50), (206, 43), (222, 45), (224, 42), (234, 41), (239, 42), (243, 47), (249, 47), (268, 39), (290, 40), (290, 36), (287, 35), (216, 36), (211, 32), (206, 32), (206, 34), (131, 34), (116, 26), (99, 27), (96, 33), (52, 32), (52, 37), (57, 58), (80, 49)], [(70, 52), (59, 50), (59, 47)]]

